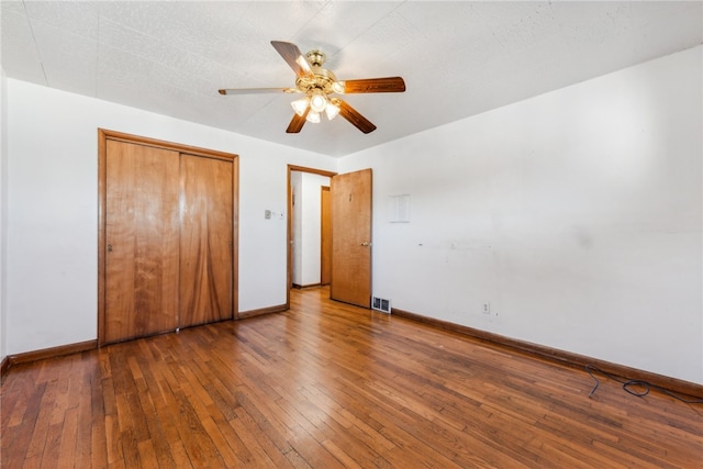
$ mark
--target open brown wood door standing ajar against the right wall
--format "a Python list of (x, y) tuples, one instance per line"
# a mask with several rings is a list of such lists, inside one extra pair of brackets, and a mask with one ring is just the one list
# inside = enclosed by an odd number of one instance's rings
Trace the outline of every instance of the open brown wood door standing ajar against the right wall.
[(371, 169), (332, 178), (333, 300), (371, 304)]

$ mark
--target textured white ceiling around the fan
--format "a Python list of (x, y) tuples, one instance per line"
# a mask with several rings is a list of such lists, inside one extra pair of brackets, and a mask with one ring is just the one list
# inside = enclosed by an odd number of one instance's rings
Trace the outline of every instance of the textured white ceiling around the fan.
[[(366, 1), (1, 2), (8, 77), (256, 138), (342, 156), (583, 81), (703, 41), (703, 3)], [(345, 99), (287, 134), (290, 87), (270, 41), (321, 48), (338, 79), (402, 76), (404, 93)]]

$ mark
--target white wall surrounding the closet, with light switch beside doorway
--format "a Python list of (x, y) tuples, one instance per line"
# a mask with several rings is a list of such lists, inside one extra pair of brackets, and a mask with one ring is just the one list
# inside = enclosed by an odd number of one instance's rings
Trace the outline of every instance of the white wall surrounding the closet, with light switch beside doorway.
[(335, 159), (13, 79), (8, 98), (9, 355), (97, 337), (98, 127), (238, 154), (239, 311), (286, 302), (287, 222), (264, 212), (287, 212), (288, 164)]

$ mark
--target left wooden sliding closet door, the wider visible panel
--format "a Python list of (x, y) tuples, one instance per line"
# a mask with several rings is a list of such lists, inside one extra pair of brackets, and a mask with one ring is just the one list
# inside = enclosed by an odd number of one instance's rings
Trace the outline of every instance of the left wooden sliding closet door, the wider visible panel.
[(179, 153), (107, 142), (105, 344), (175, 331)]

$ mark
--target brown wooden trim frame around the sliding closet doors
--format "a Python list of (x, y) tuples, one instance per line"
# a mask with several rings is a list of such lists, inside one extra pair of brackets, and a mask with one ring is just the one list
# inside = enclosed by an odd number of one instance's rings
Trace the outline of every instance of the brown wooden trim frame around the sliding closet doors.
[(98, 346), (105, 345), (105, 253), (107, 253), (107, 158), (108, 141), (153, 146), (193, 155), (232, 161), (232, 319), (238, 320), (238, 239), (239, 239), (239, 157), (238, 155), (200, 148), (172, 142), (98, 129)]

